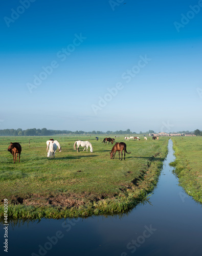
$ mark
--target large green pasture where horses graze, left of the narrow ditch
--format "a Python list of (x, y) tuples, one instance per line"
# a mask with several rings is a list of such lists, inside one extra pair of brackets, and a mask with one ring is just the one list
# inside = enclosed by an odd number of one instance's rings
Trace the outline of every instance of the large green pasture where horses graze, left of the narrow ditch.
[[(167, 154), (168, 138), (127, 141), (126, 160), (110, 159), (113, 145), (92, 137), (53, 136), (62, 147), (55, 159), (47, 158), (49, 137), (0, 137), (0, 216), (9, 201), (12, 218), (84, 217), (125, 212), (147, 198), (158, 181)], [(77, 139), (90, 140), (93, 153), (73, 150)], [(30, 148), (29, 148), (30, 140)], [(7, 148), (22, 146), (20, 163), (13, 163)], [(124, 137), (117, 138), (124, 141)], [(89, 149), (89, 148), (88, 148)]]

